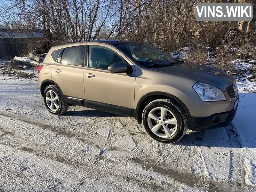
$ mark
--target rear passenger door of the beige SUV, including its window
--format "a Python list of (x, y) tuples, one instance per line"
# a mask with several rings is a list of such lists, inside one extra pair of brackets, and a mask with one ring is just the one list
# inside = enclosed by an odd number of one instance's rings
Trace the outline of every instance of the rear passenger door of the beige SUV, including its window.
[(85, 99), (84, 45), (62, 48), (52, 67), (52, 81), (59, 85), (68, 103), (79, 104), (76, 102)]

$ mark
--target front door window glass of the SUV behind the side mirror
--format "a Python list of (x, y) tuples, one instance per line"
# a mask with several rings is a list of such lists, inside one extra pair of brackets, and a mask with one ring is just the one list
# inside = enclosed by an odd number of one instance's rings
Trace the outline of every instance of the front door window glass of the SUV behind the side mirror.
[(99, 45), (90, 45), (88, 67), (107, 69), (114, 63), (125, 63), (124, 59), (111, 49)]

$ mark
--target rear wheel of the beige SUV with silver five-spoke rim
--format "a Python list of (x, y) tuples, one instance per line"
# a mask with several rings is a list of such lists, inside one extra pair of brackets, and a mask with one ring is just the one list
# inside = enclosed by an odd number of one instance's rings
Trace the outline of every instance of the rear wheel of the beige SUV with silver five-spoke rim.
[[(51, 95), (52, 93), (53, 93), (53, 96)], [(58, 100), (57, 99), (49, 100), (49, 98), (50, 99), (57, 98)], [(61, 115), (68, 110), (68, 103), (66, 102), (66, 100), (64, 99), (64, 95), (56, 85), (49, 85), (48, 87), (45, 88), (44, 104), (45, 104), (45, 107), (48, 109), (48, 111), (50, 111), (50, 113), (54, 115)]]

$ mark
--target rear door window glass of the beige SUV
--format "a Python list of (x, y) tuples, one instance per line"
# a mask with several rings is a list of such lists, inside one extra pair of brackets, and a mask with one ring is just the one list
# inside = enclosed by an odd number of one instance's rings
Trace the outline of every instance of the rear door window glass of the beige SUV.
[(84, 46), (67, 47), (61, 56), (61, 63), (71, 65), (83, 65)]

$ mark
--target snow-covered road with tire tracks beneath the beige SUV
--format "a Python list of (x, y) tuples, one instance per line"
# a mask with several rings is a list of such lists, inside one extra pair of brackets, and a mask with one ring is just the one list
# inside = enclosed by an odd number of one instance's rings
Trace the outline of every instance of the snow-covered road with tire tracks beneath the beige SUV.
[(152, 140), (131, 117), (50, 114), (38, 80), (0, 76), (0, 191), (255, 191), (256, 94), (233, 124)]

